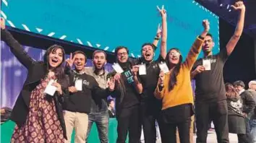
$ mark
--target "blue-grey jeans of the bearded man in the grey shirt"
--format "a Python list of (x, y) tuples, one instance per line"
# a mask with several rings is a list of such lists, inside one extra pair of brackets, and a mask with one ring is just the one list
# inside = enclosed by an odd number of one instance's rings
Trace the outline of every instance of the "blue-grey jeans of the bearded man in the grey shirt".
[(88, 142), (90, 129), (92, 128), (93, 123), (95, 122), (98, 129), (98, 137), (101, 143), (108, 143), (108, 119), (108, 110), (99, 113), (88, 114), (89, 123), (86, 142)]

